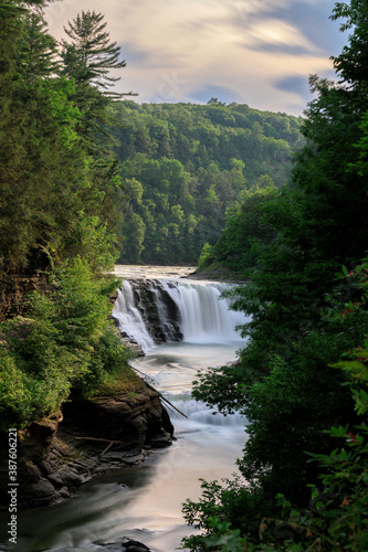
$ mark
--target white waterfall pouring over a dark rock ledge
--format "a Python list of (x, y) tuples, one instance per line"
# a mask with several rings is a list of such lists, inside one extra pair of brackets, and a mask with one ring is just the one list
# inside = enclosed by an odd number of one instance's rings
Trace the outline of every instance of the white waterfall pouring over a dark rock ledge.
[(227, 343), (240, 341), (235, 327), (246, 321), (221, 298), (227, 284), (127, 280), (119, 289), (113, 317), (123, 335), (144, 352), (155, 344)]

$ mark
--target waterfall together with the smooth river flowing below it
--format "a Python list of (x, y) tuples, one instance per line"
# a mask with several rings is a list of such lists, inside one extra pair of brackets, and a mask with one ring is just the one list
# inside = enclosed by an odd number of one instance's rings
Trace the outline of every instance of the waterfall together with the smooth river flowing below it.
[(102, 543), (120, 543), (126, 535), (153, 552), (172, 552), (182, 537), (194, 532), (182, 520), (181, 503), (197, 500), (199, 478), (231, 478), (245, 440), (240, 415), (212, 415), (190, 394), (198, 370), (231, 362), (244, 347), (234, 327), (246, 319), (229, 310), (228, 299), (219, 299), (225, 288), (157, 279), (124, 282), (113, 316), (146, 352), (132, 364), (187, 417), (171, 413), (177, 440), (151, 452), (143, 465), (80, 487), (73, 500), (19, 513), (18, 550), (103, 552)]

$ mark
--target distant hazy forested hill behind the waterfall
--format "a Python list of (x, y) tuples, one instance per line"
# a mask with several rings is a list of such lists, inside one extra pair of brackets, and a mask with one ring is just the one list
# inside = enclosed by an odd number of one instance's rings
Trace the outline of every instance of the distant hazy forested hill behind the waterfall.
[(114, 131), (127, 202), (128, 263), (197, 263), (214, 244), (227, 210), (250, 189), (278, 188), (303, 144), (302, 118), (225, 105), (117, 102)]

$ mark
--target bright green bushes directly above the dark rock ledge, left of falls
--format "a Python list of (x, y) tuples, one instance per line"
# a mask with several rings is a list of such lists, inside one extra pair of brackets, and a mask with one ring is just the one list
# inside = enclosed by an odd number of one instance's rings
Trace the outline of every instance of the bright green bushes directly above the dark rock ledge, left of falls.
[(71, 392), (87, 396), (106, 379), (130, 373), (127, 351), (107, 320), (115, 286), (76, 258), (56, 269), (48, 294), (29, 296), (28, 318), (0, 325), (1, 429), (23, 427)]

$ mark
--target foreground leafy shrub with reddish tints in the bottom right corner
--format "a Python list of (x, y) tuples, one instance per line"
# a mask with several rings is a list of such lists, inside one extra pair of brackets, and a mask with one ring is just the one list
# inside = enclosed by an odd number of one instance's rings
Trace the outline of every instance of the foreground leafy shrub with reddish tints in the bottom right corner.
[[(319, 479), (323, 491), (312, 489), (308, 508), (299, 510), (292, 506), (283, 495), (278, 503), (282, 506), (282, 520), (266, 520), (263, 539), (270, 538), (270, 529), (275, 526), (280, 532), (287, 528), (291, 539), (298, 541), (296, 550), (338, 551), (354, 550), (362, 552), (368, 545), (368, 444), (367, 412), (368, 370), (367, 349), (349, 352), (353, 359), (335, 364), (350, 378), (348, 384), (355, 410), (360, 416), (360, 425), (354, 433), (348, 426), (332, 427), (327, 433), (333, 439), (343, 443), (330, 454), (312, 455), (319, 465)], [(357, 372), (359, 370), (359, 372)]]

